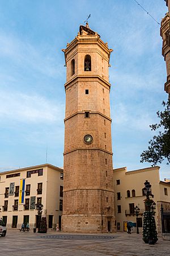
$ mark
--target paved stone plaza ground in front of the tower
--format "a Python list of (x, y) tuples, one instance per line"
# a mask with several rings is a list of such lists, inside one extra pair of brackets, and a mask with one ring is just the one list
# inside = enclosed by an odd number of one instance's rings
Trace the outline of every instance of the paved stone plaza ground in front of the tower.
[(3, 256), (100, 256), (100, 255), (170, 255), (170, 241), (148, 245), (142, 234), (118, 232), (112, 234), (70, 234), (50, 231), (46, 234), (8, 230), (0, 237), (0, 255)]

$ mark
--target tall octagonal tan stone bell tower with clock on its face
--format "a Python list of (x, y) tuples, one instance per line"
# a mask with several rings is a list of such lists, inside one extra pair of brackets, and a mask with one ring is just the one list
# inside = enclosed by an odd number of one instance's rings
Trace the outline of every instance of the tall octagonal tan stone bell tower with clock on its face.
[(109, 58), (88, 23), (65, 53), (64, 232), (115, 231)]

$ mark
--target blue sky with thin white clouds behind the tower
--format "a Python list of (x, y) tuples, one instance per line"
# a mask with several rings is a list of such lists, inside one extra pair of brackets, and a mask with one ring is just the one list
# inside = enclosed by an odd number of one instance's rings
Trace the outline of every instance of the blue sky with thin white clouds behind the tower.
[[(138, 0), (160, 23), (162, 0)], [(87, 15), (113, 48), (114, 168), (145, 168), (140, 155), (167, 100), (160, 26), (134, 0), (0, 0), (0, 171), (47, 162), (63, 166), (66, 68), (62, 48)], [(161, 164), (160, 176), (169, 177)]]

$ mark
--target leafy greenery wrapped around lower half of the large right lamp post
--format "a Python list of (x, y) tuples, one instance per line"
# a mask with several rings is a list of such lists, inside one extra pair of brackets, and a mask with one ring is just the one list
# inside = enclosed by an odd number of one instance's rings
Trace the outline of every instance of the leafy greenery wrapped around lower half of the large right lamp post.
[(154, 212), (148, 212), (147, 210), (143, 213), (143, 241), (148, 243), (150, 237), (156, 243), (158, 241), (156, 232), (156, 223)]

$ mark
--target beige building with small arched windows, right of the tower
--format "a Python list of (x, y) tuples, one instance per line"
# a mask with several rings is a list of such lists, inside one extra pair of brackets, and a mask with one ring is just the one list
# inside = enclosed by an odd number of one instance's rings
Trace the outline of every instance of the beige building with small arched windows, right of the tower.
[[(170, 182), (160, 181), (159, 167), (144, 168), (141, 170), (127, 171), (126, 167), (113, 170), (114, 195), (117, 230), (126, 231), (127, 222), (134, 225), (138, 221), (139, 232), (142, 232), (143, 212), (145, 211), (144, 183), (148, 180), (151, 184), (152, 194), (156, 203), (155, 221), (157, 230), (162, 232), (161, 212), (170, 209)], [(140, 208), (138, 220), (136, 221), (135, 207)]]

